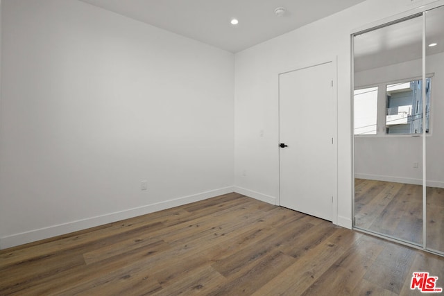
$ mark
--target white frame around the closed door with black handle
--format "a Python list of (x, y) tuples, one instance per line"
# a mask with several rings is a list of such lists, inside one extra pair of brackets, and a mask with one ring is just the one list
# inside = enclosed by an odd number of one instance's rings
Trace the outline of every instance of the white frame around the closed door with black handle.
[[(333, 96), (333, 105), (334, 107), (334, 132), (333, 132), (333, 150), (334, 150), (334, 160), (333, 166), (335, 168), (335, 177), (334, 177), (334, 188), (333, 188), (333, 202), (332, 202), (332, 223), (338, 225), (338, 180), (339, 180), (339, 167), (338, 167), (338, 66), (337, 66), (337, 56), (334, 55), (330, 58), (325, 59), (317, 59), (312, 60), (310, 62), (305, 62), (304, 64), (297, 64), (293, 67), (289, 67), (289, 69), (285, 69), (284, 71), (279, 71), (277, 77), (278, 80), (278, 141), (280, 141), (280, 75), (285, 73), (290, 73), (293, 71), (299, 71), (311, 67), (320, 66), (321, 64), (332, 63), (332, 80), (333, 80), (333, 88), (332, 88), (332, 96)], [(279, 142), (280, 143), (280, 142)], [(280, 150), (282, 148), (279, 147), (279, 143), (276, 143), (276, 148), (278, 149), (278, 174), (279, 174), (279, 193), (277, 204), (281, 205), (280, 201)], [(346, 203), (348, 204), (348, 202)]]

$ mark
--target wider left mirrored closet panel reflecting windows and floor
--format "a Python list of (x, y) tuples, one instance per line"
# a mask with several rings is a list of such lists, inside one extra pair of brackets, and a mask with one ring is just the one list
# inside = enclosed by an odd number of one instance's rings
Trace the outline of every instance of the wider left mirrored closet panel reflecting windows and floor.
[(422, 245), (422, 16), (356, 35), (354, 69), (355, 227)]

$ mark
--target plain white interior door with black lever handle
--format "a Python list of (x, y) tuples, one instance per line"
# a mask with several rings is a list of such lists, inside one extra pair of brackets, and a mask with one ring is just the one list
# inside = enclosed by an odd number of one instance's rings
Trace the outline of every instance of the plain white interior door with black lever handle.
[(328, 62), (279, 76), (280, 205), (330, 221), (337, 166), (333, 68)]

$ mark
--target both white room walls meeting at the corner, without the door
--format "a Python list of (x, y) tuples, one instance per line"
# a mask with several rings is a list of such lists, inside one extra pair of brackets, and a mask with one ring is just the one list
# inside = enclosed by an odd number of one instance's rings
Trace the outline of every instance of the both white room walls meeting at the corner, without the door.
[(350, 33), (430, 2), (367, 0), (233, 58), (76, 0), (3, 0), (0, 247), (232, 190), (276, 202), (278, 73), (336, 58), (351, 227)]

